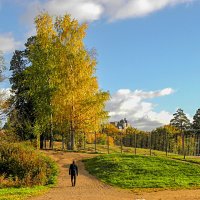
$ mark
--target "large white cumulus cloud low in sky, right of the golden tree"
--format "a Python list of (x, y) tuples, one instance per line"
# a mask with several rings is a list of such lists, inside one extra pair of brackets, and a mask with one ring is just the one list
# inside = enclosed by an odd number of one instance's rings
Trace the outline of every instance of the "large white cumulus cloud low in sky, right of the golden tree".
[(174, 93), (172, 88), (158, 91), (143, 91), (120, 89), (112, 95), (107, 103), (110, 121), (119, 121), (127, 118), (129, 123), (141, 130), (152, 130), (156, 127), (168, 124), (172, 114), (167, 111), (155, 112), (155, 105), (148, 99), (163, 97)]

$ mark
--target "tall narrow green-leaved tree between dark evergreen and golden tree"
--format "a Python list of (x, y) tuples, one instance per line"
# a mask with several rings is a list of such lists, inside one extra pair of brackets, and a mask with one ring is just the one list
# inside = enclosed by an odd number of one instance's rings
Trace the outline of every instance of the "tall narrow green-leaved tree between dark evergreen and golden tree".
[[(36, 24), (39, 23), (38, 20), (36, 18)], [(48, 28), (52, 21), (47, 19), (45, 23), (47, 28), (45, 31), (48, 30), (49, 38), (46, 38), (46, 35), (41, 33), (41, 29), (44, 29), (42, 26), (44, 24), (37, 24), (37, 34), (27, 46), (30, 66), (25, 70), (27, 77), (25, 83), (29, 85), (28, 98), (31, 99), (34, 108), (33, 133), (37, 137), (37, 147), (43, 146), (41, 139), (43, 140), (44, 132), (50, 126), (50, 147), (53, 148), (51, 99), (54, 86), (51, 84), (51, 77), (54, 67), (54, 54), (52, 52), (54, 43), (50, 38), (52, 32)]]

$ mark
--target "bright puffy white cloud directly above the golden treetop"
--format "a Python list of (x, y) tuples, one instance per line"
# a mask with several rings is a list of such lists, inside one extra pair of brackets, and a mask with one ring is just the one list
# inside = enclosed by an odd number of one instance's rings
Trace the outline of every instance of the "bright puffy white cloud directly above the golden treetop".
[(33, 22), (35, 16), (41, 11), (47, 11), (51, 15), (70, 14), (80, 22), (100, 19), (103, 13), (101, 3), (92, 0), (49, 0), (46, 2), (32, 1), (26, 4), (27, 12), (23, 20)]

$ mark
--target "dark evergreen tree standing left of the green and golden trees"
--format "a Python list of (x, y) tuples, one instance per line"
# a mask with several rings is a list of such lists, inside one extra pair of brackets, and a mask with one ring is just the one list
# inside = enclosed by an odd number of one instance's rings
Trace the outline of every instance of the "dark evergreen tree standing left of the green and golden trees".
[(28, 46), (34, 38), (29, 38), (25, 44), (24, 51), (16, 50), (10, 62), (12, 75), (10, 78), (12, 96), (10, 102), (10, 112), (8, 125), (20, 136), (22, 140), (32, 139), (32, 126), (34, 122), (33, 102), (29, 98), (29, 84), (25, 70), (30, 65), (28, 59)]

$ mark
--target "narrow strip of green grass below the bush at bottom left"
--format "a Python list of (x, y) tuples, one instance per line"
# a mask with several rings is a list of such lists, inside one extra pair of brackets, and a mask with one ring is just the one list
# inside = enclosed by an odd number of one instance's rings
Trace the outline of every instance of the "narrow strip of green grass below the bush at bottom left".
[(35, 186), (32, 188), (3, 188), (0, 189), (0, 200), (24, 200), (46, 192), (50, 186)]

